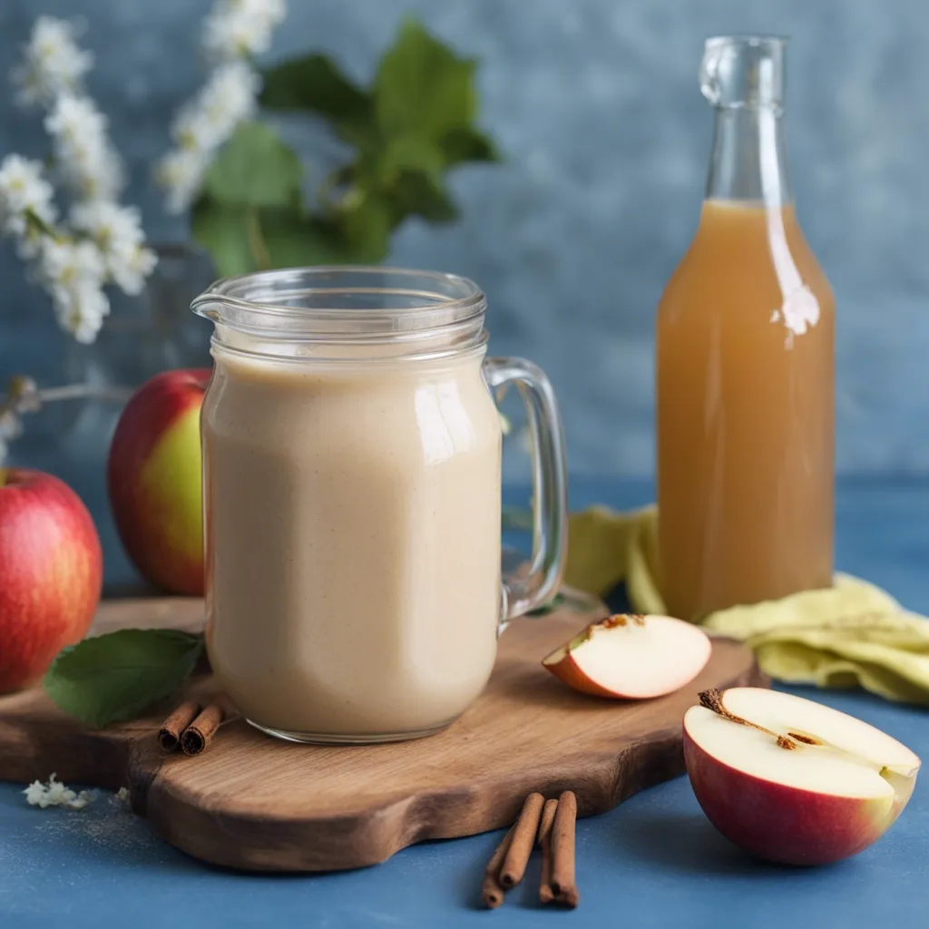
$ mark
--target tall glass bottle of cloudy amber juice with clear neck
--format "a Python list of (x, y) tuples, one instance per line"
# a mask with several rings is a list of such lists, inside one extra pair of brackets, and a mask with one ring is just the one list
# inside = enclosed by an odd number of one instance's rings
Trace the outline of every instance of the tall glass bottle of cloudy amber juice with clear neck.
[(794, 216), (784, 51), (706, 43), (706, 199), (658, 309), (662, 580), (687, 618), (831, 583), (834, 300)]

